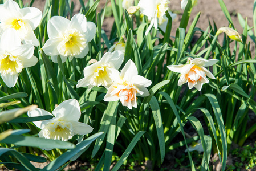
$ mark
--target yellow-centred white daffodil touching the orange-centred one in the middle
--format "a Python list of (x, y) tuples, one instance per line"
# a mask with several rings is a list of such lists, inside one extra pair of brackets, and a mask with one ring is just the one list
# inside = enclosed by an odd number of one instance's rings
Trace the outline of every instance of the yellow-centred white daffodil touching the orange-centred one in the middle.
[(108, 84), (113, 82), (111, 75), (119, 73), (117, 70), (120, 68), (123, 60), (124, 54), (121, 51), (105, 53), (100, 61), (84, 68), (84, 78), (78, 80), (76, 87), (88, 86), (88, 89), (101, 85), (107, 87)]

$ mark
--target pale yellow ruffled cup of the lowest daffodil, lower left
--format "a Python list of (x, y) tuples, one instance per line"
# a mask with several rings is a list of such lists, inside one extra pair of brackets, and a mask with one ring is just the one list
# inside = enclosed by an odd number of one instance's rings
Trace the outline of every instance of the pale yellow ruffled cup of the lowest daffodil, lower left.
[(46, 139), (67, 141), (74, 136), (74, 132), (70, 122), (58, 120), (45, 125), (42, 129), (42, 135)]

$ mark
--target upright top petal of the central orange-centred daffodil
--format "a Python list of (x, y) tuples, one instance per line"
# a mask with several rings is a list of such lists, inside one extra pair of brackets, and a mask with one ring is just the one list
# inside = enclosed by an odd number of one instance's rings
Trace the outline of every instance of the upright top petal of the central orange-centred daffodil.
[(128, 60), (128, 62), (125, 64), (123, 70), (121, 70), (121, 78), (123, 78), (124, 81), (131, 82), (133, 76), (138, 75), (138, 70), (134, 62), (132, 62), (131, 59)]

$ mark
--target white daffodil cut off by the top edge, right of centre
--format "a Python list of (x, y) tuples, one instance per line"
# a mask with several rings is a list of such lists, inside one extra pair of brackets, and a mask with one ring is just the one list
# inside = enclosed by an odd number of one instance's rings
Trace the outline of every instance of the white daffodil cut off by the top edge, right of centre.
[(168, 0), (140, 0), (138, 3), (140, 12), (146, 15), (148, 20), (151, 21), (145, 35), (148, 35), (153, 25), (154, 28), (157, 29), (158, 23), (164, 23), (164, 15), (168, 10), (168, 3)]

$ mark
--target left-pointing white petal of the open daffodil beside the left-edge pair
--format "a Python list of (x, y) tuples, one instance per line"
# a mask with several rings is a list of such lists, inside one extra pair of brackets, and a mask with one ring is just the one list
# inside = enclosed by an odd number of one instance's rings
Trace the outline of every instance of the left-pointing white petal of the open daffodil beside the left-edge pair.
[(59, 51), (57, 50), (57, 46), (62, 41), (61, 38), (52, 38), (48, 39), (44, 46), (42, 47), (42, 50), (44, 53), (48, 56), (54, 56), (59, 55)]

